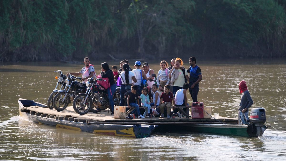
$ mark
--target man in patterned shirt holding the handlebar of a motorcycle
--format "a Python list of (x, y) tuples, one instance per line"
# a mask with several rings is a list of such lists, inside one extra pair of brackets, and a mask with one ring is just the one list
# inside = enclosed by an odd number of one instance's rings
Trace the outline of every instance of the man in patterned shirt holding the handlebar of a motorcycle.
[(84, 58), (84, 64), (86, 66), (84, 66), (80, 72), (67, 73), (67, 75), (72, 74), (74, 76), (79, 76), (80, 74), (82, 74), (82, 81), (84, 82), (86, 82), (88, 78), (91, 78), (91, 77), (96, 78), (94, 67), (92, 64), (90, 64), (90, 60), (88, 57)]

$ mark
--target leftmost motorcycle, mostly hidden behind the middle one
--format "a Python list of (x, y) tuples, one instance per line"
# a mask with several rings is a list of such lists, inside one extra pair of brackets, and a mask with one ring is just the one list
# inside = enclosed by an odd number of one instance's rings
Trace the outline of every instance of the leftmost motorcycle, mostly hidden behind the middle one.
[[(67, 76), (61, 72), (61, 70), (57, 70), (54, 72), (58, 72), (59, 77), (58, 76), (55, 77), (58, 80), (58, 82), (57, 82), (57, 85), (55, 86), (55, 89), (52, 91), (52, 93), (48, 99), (47, 105), (48, 105), (49, 109), (53, 109), (53, 98), (61, 89), (63, 89), (65, 87), (65, 81), (64, 80), (67, 78)], [(61, 88), (58, 90), (57, 87), (59, 85), (61, 85)]]

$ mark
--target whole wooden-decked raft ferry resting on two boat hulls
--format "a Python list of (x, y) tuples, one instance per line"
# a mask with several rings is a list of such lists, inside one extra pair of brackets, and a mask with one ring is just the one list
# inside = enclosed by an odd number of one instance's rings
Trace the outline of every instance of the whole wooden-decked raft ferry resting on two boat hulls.
[[(64, 111), (47, 108), (47, 105), (26, 99), (19, 99), (19, 113), (27, 121), (63, 127), (79, 131), (103, 133), (134, 138), (150, 137), (152, 132), (162, 131), (197, 131), (219, 133), (244, 137), (262, 136), (269, 126), (253, 127), (237, 125), (237, 119), (219, 117), (217, 119), (179, 118), (145, 118), (145, 119), (114, 119), (108, 111), (102, 114), (88, 113), (79, 115), (72, 106)], [(223, 124), (225, 123), (225, 124)]]

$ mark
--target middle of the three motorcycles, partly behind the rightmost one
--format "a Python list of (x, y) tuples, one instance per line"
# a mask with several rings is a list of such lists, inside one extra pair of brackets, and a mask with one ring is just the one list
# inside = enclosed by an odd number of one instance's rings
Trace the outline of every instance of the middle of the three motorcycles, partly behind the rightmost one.
[[(76, 95), (86, 91), (86, 85), (77, 81), (76, 79), (82, 79), (81, 77), (75, 77), (73, 75), (68, 75), (65, 79), (65, 90), (60, 90), (55, 95), (53, 99), (53, 107), (57, 111), (63, 111), (67, 108), (69, 103), (72, 103)], [(62, 106), (62, 107), (61, 107)]]

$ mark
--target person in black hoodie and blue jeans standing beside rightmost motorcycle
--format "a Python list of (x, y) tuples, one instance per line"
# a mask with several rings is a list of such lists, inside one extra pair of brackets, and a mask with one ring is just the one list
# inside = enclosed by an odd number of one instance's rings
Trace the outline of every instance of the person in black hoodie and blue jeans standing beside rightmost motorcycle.
[[(114, 101), (113, 101), (113, 95), (116, 91), (116, 83), (114, 81), (114, 75), (112, 70), (109, 68), (108, 64), (106, 62), (101, 64), (101, 73), (100, 73), (102, 78), (108, 78), (109, 83), (110, 83), (110, 87), (106, 90), (107, 94), (108, 94), (108, 100), (110, 103), (110, 111), (111, 111), (111, 115), (114, 114)], [(111, 93), (110, 93), (111, 91)], [(101, 113), (100, 109), (97, 109), (95, 112), (93, 113)]]

